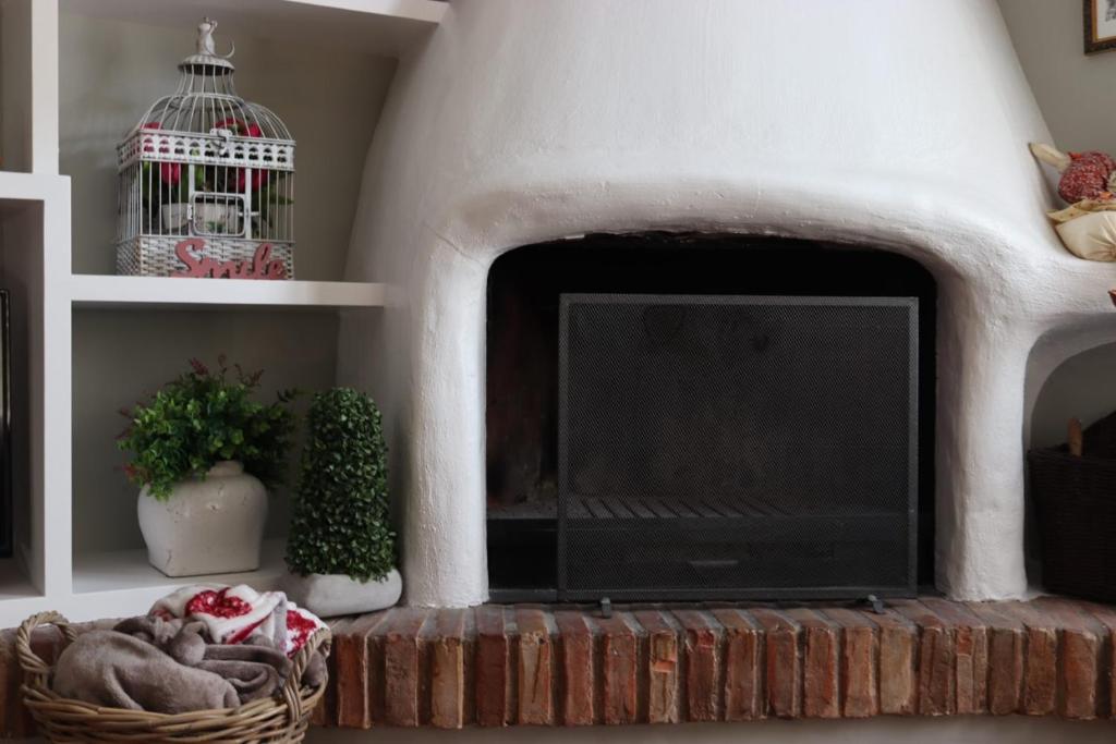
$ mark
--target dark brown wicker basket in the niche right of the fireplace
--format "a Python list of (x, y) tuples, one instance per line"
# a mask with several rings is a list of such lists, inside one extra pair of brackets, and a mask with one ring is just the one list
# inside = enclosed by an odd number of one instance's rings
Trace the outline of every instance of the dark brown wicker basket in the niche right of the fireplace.
[[(1088, 443), (1088, 433), (1086, 433)], [(1027, 454), (1048, 591), (1116, 602), (1116, 458)]]

